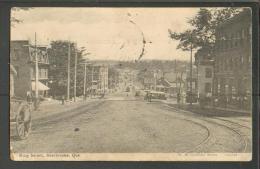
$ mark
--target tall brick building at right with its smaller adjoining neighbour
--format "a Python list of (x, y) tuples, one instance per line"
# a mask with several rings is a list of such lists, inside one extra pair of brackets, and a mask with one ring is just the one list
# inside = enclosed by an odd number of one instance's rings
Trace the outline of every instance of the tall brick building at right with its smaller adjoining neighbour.
[(220, 107), (251, 108), (251, 23), (251, 11), (243, 10), (217, 27), (214, 52), (196, 53), (199, 98)]

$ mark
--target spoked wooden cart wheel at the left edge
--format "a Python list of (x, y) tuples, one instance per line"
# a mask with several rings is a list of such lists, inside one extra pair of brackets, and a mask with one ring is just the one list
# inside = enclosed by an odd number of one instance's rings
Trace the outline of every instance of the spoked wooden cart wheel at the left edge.
[(20, 106), (20, 111), (16, 116), (16, 131), (20, 139), (28, 137), (31, 130), (31, 111), (27, 104)]

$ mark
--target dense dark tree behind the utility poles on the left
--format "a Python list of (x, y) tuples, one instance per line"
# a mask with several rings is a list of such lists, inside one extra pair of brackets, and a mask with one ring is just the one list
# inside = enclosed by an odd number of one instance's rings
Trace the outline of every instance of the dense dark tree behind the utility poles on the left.
[[(70, 44), (70, 93), (73, 93), (74, 84), (74, 66), (75, 56), (77, 52), (77, 64), (81, 63), (85, 48), (78, 49), (75, 43), (69, 41), (52, 41), (51, 48), (48, 49), (49, 54), (49, 77), (52, 83), (50, 86), (50, 94), (52, 96), (65, 95), (67, 92), (67, 76), (68, 76), (68, 48)], [(83, 91), (83, 79), (84, 79), (84, 66), (77, 65), (77, 94), (82, 94)]]

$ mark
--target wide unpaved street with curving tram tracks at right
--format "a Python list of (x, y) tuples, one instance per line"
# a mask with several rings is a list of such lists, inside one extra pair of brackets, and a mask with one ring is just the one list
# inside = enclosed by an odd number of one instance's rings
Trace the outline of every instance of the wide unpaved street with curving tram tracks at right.
[[(117, 93), (33, 119), (19, 153), (251, 152), (251, 118), (207, 117)], [(34, 118), (34, 117), (33, 117)]]

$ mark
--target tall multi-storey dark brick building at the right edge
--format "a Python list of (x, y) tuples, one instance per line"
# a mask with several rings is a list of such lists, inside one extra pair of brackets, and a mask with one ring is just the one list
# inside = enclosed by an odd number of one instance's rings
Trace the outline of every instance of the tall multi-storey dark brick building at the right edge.
[(215, 105), (251, 107), (251, 11), (244, 9), (216, 30), (214, 90)]

